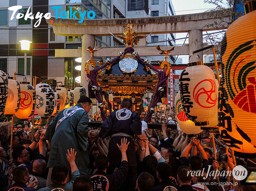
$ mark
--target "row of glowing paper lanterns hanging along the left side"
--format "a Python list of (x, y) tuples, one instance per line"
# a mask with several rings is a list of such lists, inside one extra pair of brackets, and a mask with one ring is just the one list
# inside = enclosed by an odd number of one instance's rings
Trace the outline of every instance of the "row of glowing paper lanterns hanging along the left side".
[(13, 115), (20, 119), (30, 118), (35, 110), (42, 118), (57, 115), (64, 108), (73, 107), (81, 96), (86, 95), (84, 87), (68, 90), (59, 86), (55, 91), (47, 83), (38, 83), (36, 88), (29, 82), (17, 82), (0, 71), (0, 117)]

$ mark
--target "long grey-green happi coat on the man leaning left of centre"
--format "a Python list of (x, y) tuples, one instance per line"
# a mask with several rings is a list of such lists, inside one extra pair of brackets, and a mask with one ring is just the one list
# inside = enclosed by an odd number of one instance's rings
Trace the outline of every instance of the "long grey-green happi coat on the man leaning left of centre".
[[(62, 121), (55, 130), (57, 122), (74, 109), (71, 116)], [(67, 160), (67, 150), (73, 148), (77, 152), (75, 163), (80, 174), (88, 174), (89, 155), (88, 155), (88, 113), (82, 109), (78, 103), (71, 108), (64, 109), (49, 124), (45, 136), (50, 141), (51, 152), (47, 167), (54, 167), (57, 164), (65, 164), (70, 168)]]

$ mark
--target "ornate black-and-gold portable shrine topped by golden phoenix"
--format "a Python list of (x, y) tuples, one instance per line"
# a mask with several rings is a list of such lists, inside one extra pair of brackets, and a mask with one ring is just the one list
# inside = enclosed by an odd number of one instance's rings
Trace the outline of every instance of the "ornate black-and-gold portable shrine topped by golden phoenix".
[[(151, 33), (150, 33), (151, 34)], [(113, 35), (113, 34), (112, 34)], [(113, 35), (114, 36), (114, 35)], [(168, 74), (171, 69), (170, 63), (167, 61), (167, 55), (173, 50), (162, 51), (165, 55), (165, 61), (160, 65), (161, 71), (152, 67), (147, 59), (142, 59), (134, 50), (133, 45), (137, 45), (139, 40), (146, 38), (138, 35), (132, 24), (127, 24), (123, 36), (115, 36), (121, 38), (127, 45), (123, 52), (117, 53), (114, 59), (106, 59), (99, 62), (100, 67), (89, 70), (89, 65), (94, 67), (94, 62), (88, 61), (85, 65), (85, 73), (90, 80), (88, 84), (88, 95), (90, 98), (96, 98), (98, 103), (103, 103), (103, 95), (108, 100), (109, 93), (113, 95), (112, 103), (100, 105), (101, 117), (103, 120), (107, 118), (106, 109), (120, 109), (122, 99), (131, 98), (133, 100), (133, 110), (141, 113), (143, 110), (143, 96), (146, 91), (153, 93), (149, 109), (147, 111), (146, 122), (151, 118), (150, 108), (154, 109), (161, 98), (167, 96)], [(88, 48), (89, 49), (89, 48)], [(159, 50), (160, 47), (157, 47)], [(90, 48), (90, 50), (95, 50)], [(97, 50), (95, 50), (97, 51)], [(92, 53), (91, 53), (92, 55)], [(154, 71), (155, 74), (152, 74)], [(105, 110), (104, 110), (105, 109)], [(151, 109), (151, 110), (152, 110)]]

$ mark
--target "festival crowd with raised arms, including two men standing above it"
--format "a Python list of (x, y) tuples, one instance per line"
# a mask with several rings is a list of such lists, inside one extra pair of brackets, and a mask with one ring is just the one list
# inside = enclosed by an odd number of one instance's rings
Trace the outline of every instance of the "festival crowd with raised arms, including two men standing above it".
[[(189, 137), (166, 123), (149, 130), (128, 98), (93, 129), (91, 104), (81, 97), (34, 139), (27, 124), (14, 125), (11, 149), (0, 147), (0, 191), (256, 191), (232, 173), (221, 173), (235, 165), (219, 133), (213, 138), (204, 130), (201, 138)], [(169, 116), (170, 110), (156, 112), (152, 122), (167, 122)], [(253, 166), (242, 158), (236, 165)], [(217, 170), (219, 176), (209, 174)]]

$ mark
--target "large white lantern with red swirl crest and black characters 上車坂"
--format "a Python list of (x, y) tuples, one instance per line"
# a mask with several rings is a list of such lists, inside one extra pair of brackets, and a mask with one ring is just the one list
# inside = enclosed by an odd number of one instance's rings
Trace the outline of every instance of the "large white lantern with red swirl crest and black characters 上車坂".
[(209, 125), (217, 114), (217, 84), (211, 68), (203, 62), (189, 63), (180, 75), (182, 106), (188, 119), (197, 126)]

